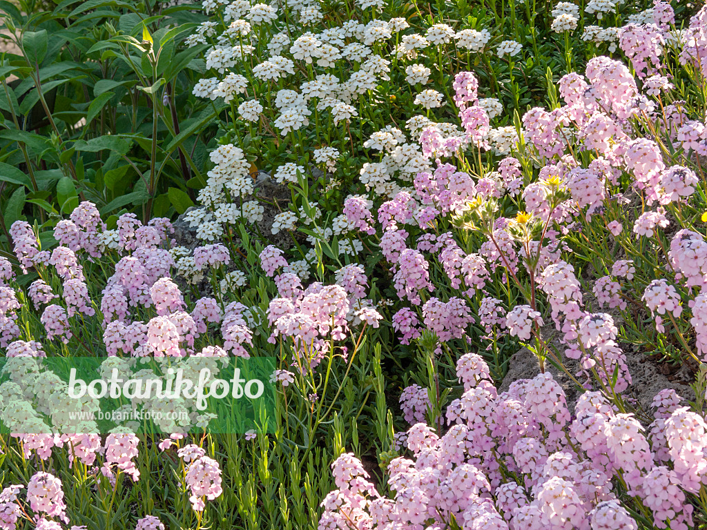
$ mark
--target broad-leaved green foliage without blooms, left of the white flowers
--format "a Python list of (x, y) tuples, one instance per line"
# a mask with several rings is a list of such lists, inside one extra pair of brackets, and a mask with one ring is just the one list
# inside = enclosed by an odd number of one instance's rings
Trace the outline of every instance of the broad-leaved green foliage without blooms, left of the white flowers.
[(144, 220), (192, 204), (218, 112), (191, 93), (204, 47), (183, 40), (201, 16), (156, 1), (0, 7), (19, 50), (0, 58), (0, 245), (18, 218), (51, 229), (81, 200)]

